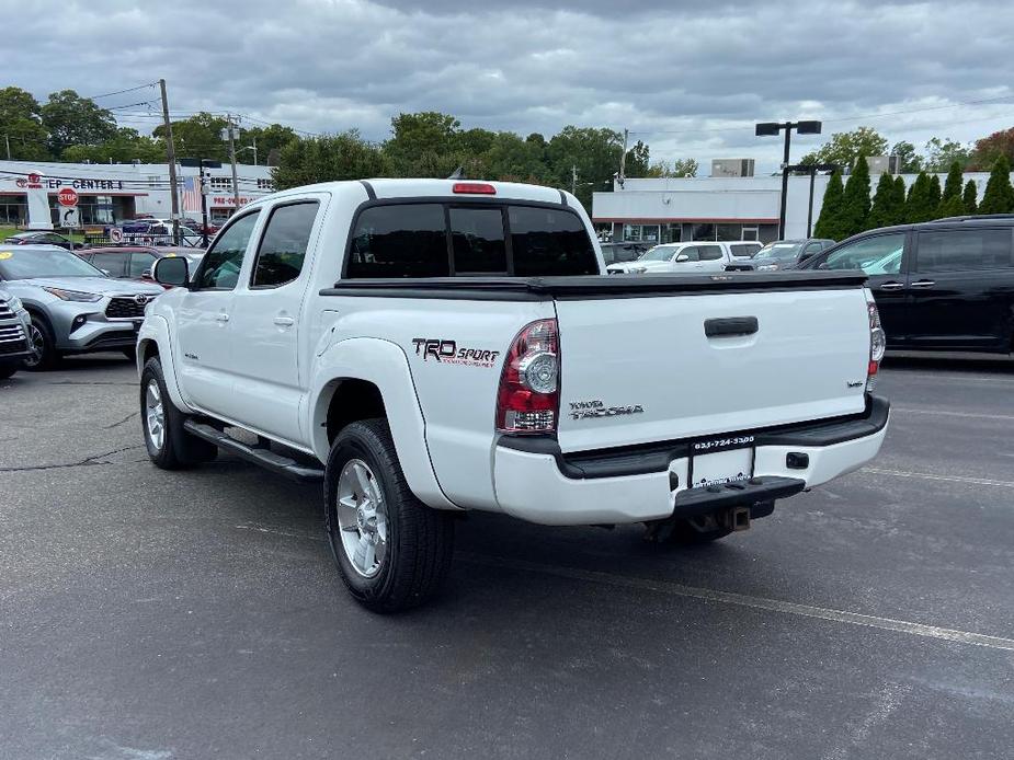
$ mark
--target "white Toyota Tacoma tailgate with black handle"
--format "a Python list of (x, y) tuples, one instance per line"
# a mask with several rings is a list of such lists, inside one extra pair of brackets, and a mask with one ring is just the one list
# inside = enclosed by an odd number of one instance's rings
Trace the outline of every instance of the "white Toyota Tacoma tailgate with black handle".
[(558, 293), (560, 448), (862, 412), (869, 359), (862, 280), (784, 276), (781, 287), (767, 278), (750, 288), (743, 276), (752, 275), (737, 275), (739, 287), (725, 290)]

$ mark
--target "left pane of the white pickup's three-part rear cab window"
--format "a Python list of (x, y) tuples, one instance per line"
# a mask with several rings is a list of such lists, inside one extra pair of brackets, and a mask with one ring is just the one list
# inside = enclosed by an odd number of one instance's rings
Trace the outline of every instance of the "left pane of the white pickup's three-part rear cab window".
[(447, 277), (447, 232), (441, 204), (374, 206), (352, 233), (348, 277)]

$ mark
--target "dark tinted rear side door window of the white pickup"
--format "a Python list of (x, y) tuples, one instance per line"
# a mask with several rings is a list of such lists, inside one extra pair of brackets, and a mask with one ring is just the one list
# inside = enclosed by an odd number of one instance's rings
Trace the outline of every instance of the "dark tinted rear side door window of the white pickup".
[(257, 252), (251, 280), (254, 288), (276, 288), (299, 276), (319, 206), (314, 200), (272, 210)]

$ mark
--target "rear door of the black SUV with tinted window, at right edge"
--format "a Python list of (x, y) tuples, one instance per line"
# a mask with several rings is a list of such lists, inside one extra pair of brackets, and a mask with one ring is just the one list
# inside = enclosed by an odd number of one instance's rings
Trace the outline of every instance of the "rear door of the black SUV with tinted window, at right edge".
[(1012, 229), (923, 229), (915, 240), (911, 347), (1011, 350)]

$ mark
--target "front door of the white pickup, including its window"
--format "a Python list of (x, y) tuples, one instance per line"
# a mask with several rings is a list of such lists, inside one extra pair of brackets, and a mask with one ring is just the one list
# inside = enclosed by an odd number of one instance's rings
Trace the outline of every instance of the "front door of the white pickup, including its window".
[(237, 217), (201, 262), (176, 312), (175, 361), (187, 403), (225, 415), (232, 400), (232, 301), (258, 212)]

